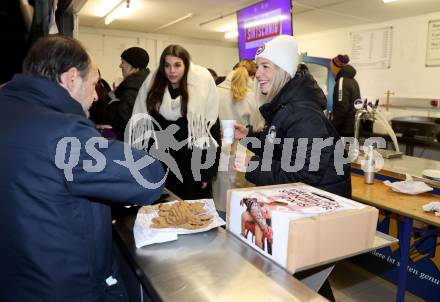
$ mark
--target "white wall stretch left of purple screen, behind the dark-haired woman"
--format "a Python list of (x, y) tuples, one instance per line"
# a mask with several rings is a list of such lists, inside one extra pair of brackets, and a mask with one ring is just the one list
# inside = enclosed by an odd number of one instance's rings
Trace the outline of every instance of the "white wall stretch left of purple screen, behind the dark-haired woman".
[(180, 44), (198, 65), (213, 68), (226, 75), (238, 62), (238, 48), (218, 41), (181, 38), (142, 32), (79, 27), (78, 39), (96, 60), (102, 77), (112, 84), (122, 80), (121, 53), (131, 46), (143, 47), (150, 55), (149, 67), (157, 66), (160, 54), (169, 44)]

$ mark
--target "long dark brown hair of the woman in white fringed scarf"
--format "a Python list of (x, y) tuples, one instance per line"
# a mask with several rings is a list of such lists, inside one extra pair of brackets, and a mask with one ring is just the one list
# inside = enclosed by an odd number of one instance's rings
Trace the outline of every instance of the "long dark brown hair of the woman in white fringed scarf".
[(168, 45), (162, 52), (159, 61), (159, 68), (156, 76), (153, 79), (153, 85), (147, 95), (147, 110), (150, 114), (159, 113), (160, 105), (162, 104), (163, 95), (167, 88), (169, 81), (165, 73), (165, 58), (166, 56), (173, 56), (182, 59), (185, 65), (185, 72), (180, 80), (180, 95), (181, 95), (181, 113), (186, 116), (188, 108), (188, 70), (191, 62), (189, 52), (180, 45)]

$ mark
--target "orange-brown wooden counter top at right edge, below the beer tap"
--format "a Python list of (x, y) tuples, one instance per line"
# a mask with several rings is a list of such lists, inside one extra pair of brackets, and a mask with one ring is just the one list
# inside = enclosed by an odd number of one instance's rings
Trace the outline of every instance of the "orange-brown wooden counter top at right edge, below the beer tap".
[(364, 177), (357, 174), (351, 175), (351, 186), (353, 199), (356, 201), (440, 227), (440, 217), (422, 209), (429, 202), (440, 201), (438, 195), (397, 193), (377, 179), (374, 184), (365, 184)]

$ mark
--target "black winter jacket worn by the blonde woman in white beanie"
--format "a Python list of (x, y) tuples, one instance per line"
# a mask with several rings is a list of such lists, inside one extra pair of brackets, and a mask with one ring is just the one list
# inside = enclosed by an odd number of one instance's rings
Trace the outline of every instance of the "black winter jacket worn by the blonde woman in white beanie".
[[(260, 107), (266, 125), (262, 132), (250, 131), (248, 135), (249, 138), (257, 138), (262, 146), (248, 146), (256, 154), (251, 161), (258, 164), (255, 170), (246, 173), (248, 181), (258, 186), (303, 182), (351, 197), (350, 166), (335, 162), (336, 142), (340, 137), (322, 113), (323, 100), (325, 95), (321, 88), (308, 70), (300, 65), (295, 77), (272, 102)], [(326, 139), (330, 140), (328, 146), (322, 148), (320, 153), (320, 150), (312, 153), (312, 146), (317, 147), (313, 140)], [(268, 152), (271, 148), (272, 157)], [(288, 152), (290, 149), (291, 152)], [(283, 155), (283, 152), (286, 154)], [(340, 156), (343, 152), (343, 145), (340, 144)], [(266, 154), (263, 156), (263, 153)], [(301, 162), (303, 165), (296, 168)]]

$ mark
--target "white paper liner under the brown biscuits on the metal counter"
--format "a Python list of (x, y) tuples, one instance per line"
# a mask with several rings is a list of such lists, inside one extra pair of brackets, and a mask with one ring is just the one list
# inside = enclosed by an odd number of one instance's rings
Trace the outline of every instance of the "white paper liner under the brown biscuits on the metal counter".
[[(205, 228), (196, 230), (187, 230), (180, 228), (163, 228), (156, 229), (151, 228), (152, 220), (159, 216), (159, 208), (155, 206), (143, 206), (139, 209), (136, 216), (136, 221), (133, 227), (134, 241), (137, 248), (154, 243), (161, 243), (167, 241), (177, 240), (177, 235), (193, 234), (205, 232), (210, 229), (225, 225), (225, 221), (220, 218), (215, 209), (215, 204), (212, 199), (198, 199), (198, 200), (185, 200), (186, 202), (203, 202), (205, 203), (206, 213), (213, 216), (212, 222)], [(168, 204), (176, 203), (178, 200), (170, 201)]]

